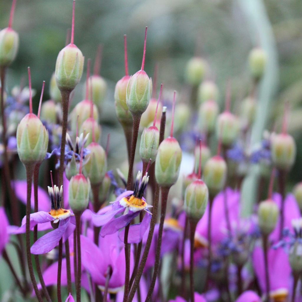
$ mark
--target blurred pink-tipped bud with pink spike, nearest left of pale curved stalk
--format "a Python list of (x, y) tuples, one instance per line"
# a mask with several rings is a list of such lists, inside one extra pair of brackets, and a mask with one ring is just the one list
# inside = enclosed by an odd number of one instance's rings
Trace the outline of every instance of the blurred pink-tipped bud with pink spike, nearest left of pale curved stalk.
[(224, 146), (232, 145), (239, 136), (238, 118), (229, 111), (221, 113), (217, 119), (216, 133)]

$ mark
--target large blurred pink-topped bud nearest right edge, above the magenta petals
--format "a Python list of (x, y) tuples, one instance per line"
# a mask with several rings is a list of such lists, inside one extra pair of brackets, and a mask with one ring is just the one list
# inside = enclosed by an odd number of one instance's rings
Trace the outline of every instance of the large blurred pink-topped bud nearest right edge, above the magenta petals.
[(272, 135), (271, 158), (279, 170), (291, 169), (296, 158), (296, 143), (291, 135), (287, 133)]

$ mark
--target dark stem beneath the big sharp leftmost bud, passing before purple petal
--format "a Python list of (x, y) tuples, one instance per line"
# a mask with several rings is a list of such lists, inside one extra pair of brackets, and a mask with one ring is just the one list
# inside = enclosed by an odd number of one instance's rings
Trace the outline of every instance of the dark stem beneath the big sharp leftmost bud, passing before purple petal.
[(26, 182), (27, 182), (27, 201), (26, 201), (26, 255), (29, 275), (31, 283), (33, 284), (35, 294), (39, 302), (42, 302), (42, 297), (37, 286), (36, 278), (34, 275), (33, 263), (31, 261), (31, 239), (30, 239), (30, 215), (31, 215), (31, 183), (33, 180), (34, 168), (31, 165), (26, 166)]

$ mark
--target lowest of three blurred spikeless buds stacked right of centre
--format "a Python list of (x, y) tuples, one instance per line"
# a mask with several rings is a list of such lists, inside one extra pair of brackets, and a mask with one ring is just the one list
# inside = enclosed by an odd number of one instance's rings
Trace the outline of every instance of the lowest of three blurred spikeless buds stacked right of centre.
[(215, 101), (209, 100), (201, 104), (198, 111), (198, 127), (202, 132), (213, 132), (218, 112), (219, 108)]

